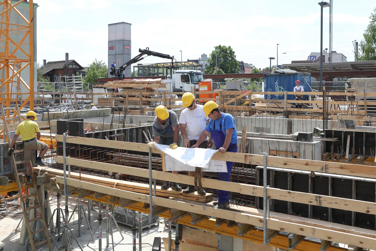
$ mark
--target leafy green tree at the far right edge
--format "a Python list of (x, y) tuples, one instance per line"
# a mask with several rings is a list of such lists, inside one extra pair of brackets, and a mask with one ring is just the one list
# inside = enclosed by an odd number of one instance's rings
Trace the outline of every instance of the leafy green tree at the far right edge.
[(376, 8), (370, 16), (370, 23), (364, 30), (362, 41), (360, 42), (360, 61), (376, 60)]

